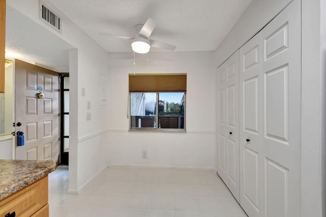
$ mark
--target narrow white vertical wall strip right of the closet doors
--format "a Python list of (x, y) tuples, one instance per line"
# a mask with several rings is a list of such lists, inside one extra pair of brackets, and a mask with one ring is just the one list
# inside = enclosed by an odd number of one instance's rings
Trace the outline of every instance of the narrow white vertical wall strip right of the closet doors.
[[(320, 1), (302, 0), (301, 213), (322, 216)], [(311, 183), (314, 183), (311, 186)]]

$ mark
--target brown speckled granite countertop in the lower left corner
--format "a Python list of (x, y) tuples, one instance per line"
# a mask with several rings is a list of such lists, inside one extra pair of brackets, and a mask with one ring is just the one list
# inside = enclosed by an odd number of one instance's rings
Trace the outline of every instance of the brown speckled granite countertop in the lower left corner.
[(51, 160), (0, 159), (0, 200), (55, 171)]

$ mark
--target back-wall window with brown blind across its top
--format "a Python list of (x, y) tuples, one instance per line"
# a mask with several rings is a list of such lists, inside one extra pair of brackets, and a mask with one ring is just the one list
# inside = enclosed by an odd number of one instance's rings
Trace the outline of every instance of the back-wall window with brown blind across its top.
[(185, 129), (186, 74), (129, 74), (130, 129)]

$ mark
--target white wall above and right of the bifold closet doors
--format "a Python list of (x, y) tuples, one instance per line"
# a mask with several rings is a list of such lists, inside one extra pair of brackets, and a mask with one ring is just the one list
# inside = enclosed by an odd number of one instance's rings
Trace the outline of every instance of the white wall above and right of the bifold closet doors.
[[(295, 0), (298, 1), (298, 0)], [(233, 29), (215, 51), (215, 66), (221, 65), (232, 53), (254, 36), (275, 15), (277, 15), (290, 0), (254, 0), (246, 12), (240, 17)], [(325, 0), (321, 0), (321, 12), (325, 13)], [(302, 132), (301, 132), (301, 216), (322, 216), (321, 182), (325, 177), (321, 161), (325, 162), (325, 138), (321, 129), (326, 128), (324, 123), (325, 105), (324, 84), (325, 40), (320, 40), (320, 0), (301, 0), (302, 3)], [(323, 26), (323, 28), (325, 28)], [(322, 32), (324, 34), (324, 32)], [(322, 55), (321, 55), (322, 53)], [(323, 58), (321, 61), (321, 57)], [(323, 73), (322, 73), (323, 72)], [(325, 102), (324, 102), (325, 103)], [(322, 121), (321, 121), (322, 120)], [(321, 128), (322, 126), (322, 128)], [(322, 171), (322, 172), (321, 172)], [(312, 183), (314, 183), (312, 185)], [(323, 193), (325, 194), (325, 193)], [(325, 197), (325, 195), (324, 195)]]

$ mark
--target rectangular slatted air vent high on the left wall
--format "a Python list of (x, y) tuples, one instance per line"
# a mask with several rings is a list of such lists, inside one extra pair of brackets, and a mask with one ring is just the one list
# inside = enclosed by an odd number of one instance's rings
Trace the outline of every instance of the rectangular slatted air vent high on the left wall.
[(61, 18), (40, 1), (40, 19), (61, 33)]

